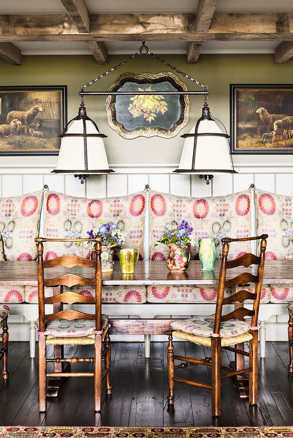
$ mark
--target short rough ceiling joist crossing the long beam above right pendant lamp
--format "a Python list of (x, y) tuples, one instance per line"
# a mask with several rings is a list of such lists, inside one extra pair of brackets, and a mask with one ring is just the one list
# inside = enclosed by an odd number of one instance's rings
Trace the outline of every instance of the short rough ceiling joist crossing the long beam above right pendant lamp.
[[(196, 32), (207, 32), (218, 0), (199, 0), (196, 11)], [(187, 46), (187, 64), (195, 64), (203, 46), (202, 41), (189, 41)]]

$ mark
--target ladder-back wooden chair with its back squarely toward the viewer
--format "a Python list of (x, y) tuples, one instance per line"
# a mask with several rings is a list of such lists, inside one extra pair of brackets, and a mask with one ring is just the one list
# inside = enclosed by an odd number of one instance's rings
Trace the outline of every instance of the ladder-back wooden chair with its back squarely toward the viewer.
[[(101, 410), (102, 379), (106, 378), (106, 393), (111, 394), (110, 385), (110, 338), (107, 333), (108, 319), (101, 312), (102, 307), (102, 267), (101, 238), (93, 239), (46, 239), (38, 237), (38, 291), (39, 291), (39, 410), (46, 411), (46, 377), (94, 377), (95, 411)], [(43, 260), (44, 242), (92, 242), (95, 244), (95, 260), (77, 255), (62, 255), (52, 260)], [(92, 269), (89, 269), (92, 268)], [(53, 276), (53, 278), (52, 278)], [(94, 286), (95, 297), (87, 297), (75, 292), (63, 292), (63, 286)], [(44, 288), (53, 287), (53, 296), (45, 297)], [(95, 313), (83, 313), (71, 308), (64, 309), (63, 304), (95, 304)], [(53, 304), (53, 313), (45, 314), (45, 304)], [(102, 349), (102, 339), (104, 347)], [(64, 345), (95, 346), (94, 357), (64, 358)], [(47, 359), (46, 346), (54, 346), (53, 359)], [(102, 359), (105, 371), (102, 373)], [(46, 364), (54, 363), (54, 372), (46, 372)], [(94, 363), (94, 372), (69, 372), (71, 363)], [(64, 369), (64, 364), (67, 364)]]

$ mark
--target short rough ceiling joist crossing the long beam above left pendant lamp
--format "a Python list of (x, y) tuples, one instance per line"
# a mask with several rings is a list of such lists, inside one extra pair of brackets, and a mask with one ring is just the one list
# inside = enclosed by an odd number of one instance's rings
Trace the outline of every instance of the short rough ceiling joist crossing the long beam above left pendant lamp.
[[(60, 0), (60, 2), (63, 4), (65, 11), (76, 26), (78, 32), (89, 33), (90, 20), (85, 0)], [(86, 41), (86, 43), (97, 63), (106, 65), (108, 61), (108, 49), (105, 44), (102, 41)]]

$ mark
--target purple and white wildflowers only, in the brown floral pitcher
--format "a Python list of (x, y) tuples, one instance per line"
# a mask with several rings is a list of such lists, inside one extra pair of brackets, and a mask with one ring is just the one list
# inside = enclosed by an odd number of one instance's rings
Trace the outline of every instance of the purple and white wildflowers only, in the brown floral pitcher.
[(176, 222), (167, 222), (164, 225), (163, 231), (159, 240), (154, 244), (174, 244), (180, 247), (184, 247), (187, 244), (192, 246), (197, 245), (198, 239), (193, 233), (191, 223), (183, 220), (180, 225)]

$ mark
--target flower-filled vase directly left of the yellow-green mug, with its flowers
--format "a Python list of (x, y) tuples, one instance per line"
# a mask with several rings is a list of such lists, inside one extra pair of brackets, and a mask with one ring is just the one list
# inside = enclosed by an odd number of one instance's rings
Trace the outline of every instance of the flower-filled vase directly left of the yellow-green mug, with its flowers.
[[(93, 227), (88, 231), (88, 237), (102, 237), (102, 272), (113, 271), (113, 254), (115, 247), (124, 247), (126, 232), (121, 231), (119, 226), (113, 223), (103, 223), (99, 227)], [(92, 244), (90, 249), (90, 258), (95, 254), (95, 244)]]

